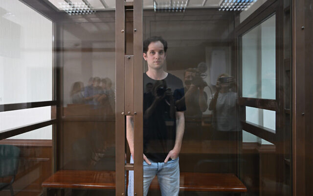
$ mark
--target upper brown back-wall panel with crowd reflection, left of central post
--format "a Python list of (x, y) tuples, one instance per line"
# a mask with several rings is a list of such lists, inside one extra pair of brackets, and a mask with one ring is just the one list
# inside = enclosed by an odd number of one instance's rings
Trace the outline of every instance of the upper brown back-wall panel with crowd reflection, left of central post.
[(114, 118), (114, 22), (67, 24), (63, 47), (63, 115)]

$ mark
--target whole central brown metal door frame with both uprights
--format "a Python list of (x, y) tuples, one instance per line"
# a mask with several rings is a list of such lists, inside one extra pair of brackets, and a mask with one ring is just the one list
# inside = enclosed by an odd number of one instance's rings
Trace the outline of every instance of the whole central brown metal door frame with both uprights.
[[(115, 7), (115, 195), (126, 195), (126, 171), (134, 171), (134, 195), (143, 195), (143, 141), (142, 141), (142, 7), (143, 0), (116, 0)], [(133, 54), (126, 55), (125, 12), (133, 10)], [(129, 30), (129, 29), (127, 29)], [(127, 31), (129, 32), (129, 31)], [(136, 87), (136, 88), (134, 88)], [(126, 116), (134, 116), (134, 164), (126, 163)], [(138, 156), (137, 156), (138, 154)], [(140, 155), (141, 154), (141, 155)]]

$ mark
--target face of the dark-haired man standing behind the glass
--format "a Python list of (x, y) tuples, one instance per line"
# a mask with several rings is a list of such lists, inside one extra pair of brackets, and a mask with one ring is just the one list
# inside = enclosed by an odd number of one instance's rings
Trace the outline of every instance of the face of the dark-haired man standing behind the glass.
[(165, 60), (164, 46), (160, 41), (151, 42), (147, 53), (143, 53), (143, 58), (147, 61), (151, 69), (162, 69)]

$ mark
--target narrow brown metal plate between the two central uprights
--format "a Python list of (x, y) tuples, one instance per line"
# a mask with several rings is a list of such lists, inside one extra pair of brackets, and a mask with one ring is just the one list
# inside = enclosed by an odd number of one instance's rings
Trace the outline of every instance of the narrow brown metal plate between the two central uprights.
[(126, 55), (125, 59), (125, 112), (134, 114), (134, 55)]

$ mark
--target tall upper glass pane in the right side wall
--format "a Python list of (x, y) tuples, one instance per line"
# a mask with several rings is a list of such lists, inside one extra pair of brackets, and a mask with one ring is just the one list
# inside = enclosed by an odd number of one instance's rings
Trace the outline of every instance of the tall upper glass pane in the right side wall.
[(276, 98), (276, 15), (242, 36), (242, 92), (247, 98)]

